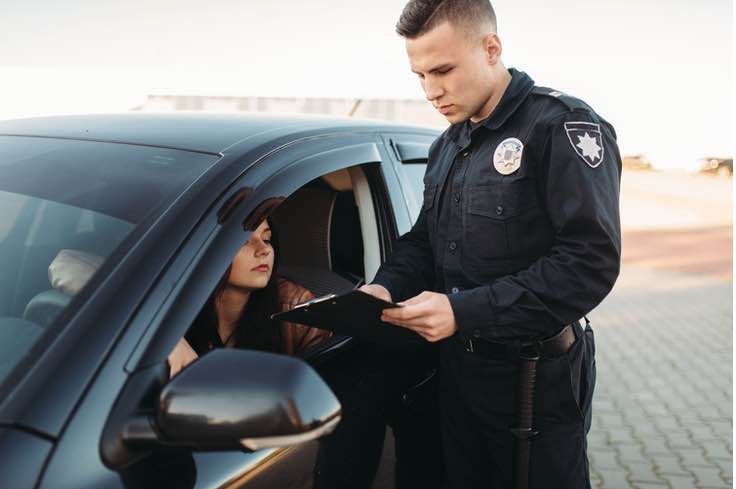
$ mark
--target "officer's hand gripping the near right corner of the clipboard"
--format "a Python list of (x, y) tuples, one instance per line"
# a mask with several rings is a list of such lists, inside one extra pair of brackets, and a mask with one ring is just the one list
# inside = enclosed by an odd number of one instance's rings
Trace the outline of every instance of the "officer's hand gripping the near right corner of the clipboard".
[(445, 294), (425, 291), (400, 304), (404, 307), (384, 309), (381, 320), (414, 330), (427, 341), (439, 341), (457, 331), (455, 313)]

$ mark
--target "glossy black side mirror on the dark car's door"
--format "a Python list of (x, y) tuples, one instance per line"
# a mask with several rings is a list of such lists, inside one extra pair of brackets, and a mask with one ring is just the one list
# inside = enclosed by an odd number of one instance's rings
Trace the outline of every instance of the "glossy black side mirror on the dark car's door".
[(166, 444), (259, 450), (314, 440), (339, 421), (339, 401), (304, 361), (228, 348), (162, 389), (155, 427)]

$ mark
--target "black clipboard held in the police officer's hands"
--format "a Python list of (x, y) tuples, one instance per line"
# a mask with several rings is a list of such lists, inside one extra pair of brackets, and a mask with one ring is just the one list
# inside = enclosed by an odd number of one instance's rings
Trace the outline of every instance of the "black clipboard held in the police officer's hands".
[(299, 304), (289, 311), (271, 315), (271, 319), (306, 324), (382, 345), (423, 342), (414, 331), (381, 321), (381, 311), (401, 307), (361, 290), (328, 294)]

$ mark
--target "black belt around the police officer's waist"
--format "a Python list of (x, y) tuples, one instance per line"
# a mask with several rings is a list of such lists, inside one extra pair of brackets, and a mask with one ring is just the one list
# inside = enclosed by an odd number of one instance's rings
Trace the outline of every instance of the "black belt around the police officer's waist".
[(519, 339), (499, 341), (484, 338), (463, 338), (461, 341), (467, 351), (477, 353), (484, 357), (518, 359), (522, 352), (531, 349), (538, 352), (540, 359), (550, 359), (567, 353), (575, 343), (575, 339), (576, 327), (574, 324), (568, 324), (554, 336), (543, 340)]

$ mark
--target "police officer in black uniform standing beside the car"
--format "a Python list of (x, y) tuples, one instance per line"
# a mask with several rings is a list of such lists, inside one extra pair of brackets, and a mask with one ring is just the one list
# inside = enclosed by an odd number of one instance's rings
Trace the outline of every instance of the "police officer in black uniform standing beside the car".
[(504, 66), (488, 0), (411, 0), (397, 31), (451, 125), (419, 218), (362, 290), (403, 301), (382, 319), (440, 342), (449, 487), (589, 488), (595, 348), (580, 320), (619, 273), (614, 129)]

